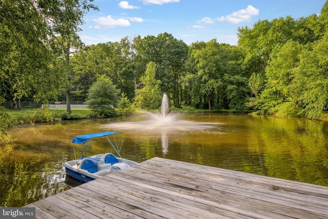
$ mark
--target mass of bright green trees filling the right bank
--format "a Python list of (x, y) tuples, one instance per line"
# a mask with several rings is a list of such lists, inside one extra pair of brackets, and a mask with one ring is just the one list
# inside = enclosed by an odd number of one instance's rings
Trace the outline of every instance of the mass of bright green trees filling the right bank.
[(263, 66), (249, 80), (255, 97), (248, 106), (257, 113), (322, 118), (328, 101), (326, 6), (319, 17), (279, 18), (239, 29), (245, 61), (253, 65), (248, 57), (259, 54)]

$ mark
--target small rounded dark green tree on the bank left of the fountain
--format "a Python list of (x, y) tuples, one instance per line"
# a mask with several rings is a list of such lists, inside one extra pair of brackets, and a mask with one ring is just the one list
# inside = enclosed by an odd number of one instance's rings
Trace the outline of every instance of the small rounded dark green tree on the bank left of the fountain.
[(113, 114), (113, 107), (119, 103), (119, 90), (106, 75), (101, 75), (89, 89), (86, 104), (96, 116), (105, 117)]

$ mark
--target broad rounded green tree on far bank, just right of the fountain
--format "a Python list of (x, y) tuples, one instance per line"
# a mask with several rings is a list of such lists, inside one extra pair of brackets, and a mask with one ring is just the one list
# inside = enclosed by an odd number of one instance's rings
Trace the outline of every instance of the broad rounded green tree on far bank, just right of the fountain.
[(238, 47), (219, 44), (216, 39), (208, 43), (192, 46), (190, 62), (191, 71), (185, 83), (195, 86), (192, 94), (195, 99), (202, 99), (212, 110), (216, 106), (231, 110), (244, 110), (244, 102), (250, 92), (248, 88), (248, 71), (243, 66), (243, 54)]

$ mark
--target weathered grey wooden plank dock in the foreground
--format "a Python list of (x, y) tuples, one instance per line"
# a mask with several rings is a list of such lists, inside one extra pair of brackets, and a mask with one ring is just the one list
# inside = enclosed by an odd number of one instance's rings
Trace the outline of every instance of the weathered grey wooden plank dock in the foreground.
[(328, 187), (155, 157), (26, 207), (36, 218), (328, 218)]

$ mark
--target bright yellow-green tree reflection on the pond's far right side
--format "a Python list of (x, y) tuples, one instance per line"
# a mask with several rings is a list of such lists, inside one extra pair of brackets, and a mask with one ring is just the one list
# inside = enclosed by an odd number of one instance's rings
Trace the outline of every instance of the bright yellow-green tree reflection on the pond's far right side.
[(254, 124), (248, 138), (249, 150), (262, 154), (262, 158), (254, 165), (256, 170), (245, 166), (244, 172), (263, 174), (265, 170), (263, 175), (328, 186), (324, 122), (262, 117), (257, 127)]

